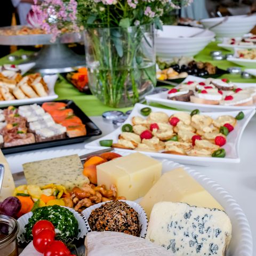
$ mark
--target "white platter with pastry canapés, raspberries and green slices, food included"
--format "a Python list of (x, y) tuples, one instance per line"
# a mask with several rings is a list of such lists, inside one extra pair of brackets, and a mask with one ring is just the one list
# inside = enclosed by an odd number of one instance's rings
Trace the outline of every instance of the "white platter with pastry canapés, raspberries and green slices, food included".
[[(150, 109), (150, 115), (148, 117), (143, 116), (141, 109)], [(157, 114), (155, 114), (156, 112)], [(239, 143), (247, 123), (255, 113), (255, 109), (246, 109), (242, 113), (243, 119), (239, 117), (241, 115), (239, 111), (202, 113), (202, 115), (191, 117), (189, 112), (156, 108), (137, 103), (124, 123), (124, 125), (129, 124), (126, 125), (127, 129), (126, 127), (123, 129), (128, 133), (122, 131), (123, 126), (119, 127), (114, 132), (86, 144), (85, 148), (100, 149), (112, 146), (130, 152), (145, 151), (145, 154), (150, 156), (173, 159), (179, 163), (194, 165), (239, 163)], [(236, 118), (240, 120), (236, 122)], [(178, 124), (180, 120), (181, 122)], [(153, 124), (156, 127), (151, 126)], [(227, 128), (229, 130), (229, 127), (221, 128), (223, 125), (231, 125), (234, 128), (234, 131), (231, 131), (231, 128), (230, 134), (226, 133), (228, 135), (227, 137), (224, 136), (226, 137), (225, 140), (219, 138), (223, 137), (223, 134), (220, 133), (223, 132), (223, 129), (226, 130)], [(205, 132), (202, 132), (202, 130)], [(200, 142), (196, 139), (198, 137), (194, 137), (198, 135), (199, 140), (203, 139)], [(223, 140), (223, 143), (226, 144), (220, 143), (219, 140)], [(105, 143), (105, 141), (107, 142)], [(216, 147), (217, 145), (220, 147)], [(171, 154), (163, 154), (164, 151)], [(223, 154), (219, 155), (220, 151)], [(211, 157), (212, 155), (214, 157)], [(223, 155), (226, 155), (226, 157)]]

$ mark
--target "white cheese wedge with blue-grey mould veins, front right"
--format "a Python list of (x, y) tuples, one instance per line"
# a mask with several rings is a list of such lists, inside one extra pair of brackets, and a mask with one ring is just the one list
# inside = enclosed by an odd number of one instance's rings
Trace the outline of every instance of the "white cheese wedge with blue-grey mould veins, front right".
[(218, 209), (159, 202), (151, 211), (146, 239), (177, 256), (222, 256), (231, 239), (231, 222)]

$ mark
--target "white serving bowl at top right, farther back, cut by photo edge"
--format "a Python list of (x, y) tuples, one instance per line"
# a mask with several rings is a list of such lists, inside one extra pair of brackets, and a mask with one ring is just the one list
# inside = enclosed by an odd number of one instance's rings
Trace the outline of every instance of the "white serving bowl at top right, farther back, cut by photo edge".
[[(205, 28), (221, 22), (225, 17), (203, 19), (200, 22)], [(256, 15), (235, 15), (228, 17), (228, 20), (211, 29), (217, 37), (239, 37), (249, 33), (256, 24)]]

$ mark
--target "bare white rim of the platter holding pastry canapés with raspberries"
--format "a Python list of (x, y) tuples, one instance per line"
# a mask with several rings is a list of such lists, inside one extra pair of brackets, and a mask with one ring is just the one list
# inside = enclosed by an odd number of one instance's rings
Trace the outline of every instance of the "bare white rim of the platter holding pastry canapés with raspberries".
[[(133, 116), (141, 116), (140, 114), (140, 109), (145, 108), (145, 107), (150, 107), (152, 111), (162, 111), (166, 113), (167, 115), (171, 116), (174, 113), (177, 113), (177, 110), (169, 110), (169, 109), (162, 109), (162, 108), (155, 108), (147, 105), (143, 105), (140, 103), (137, 103), (130, 116), (127, 118), (124, 124), (131, 124), (131, 119)], [(230, 115), (235, 117), (238, 114), (239, 111), (229, 111), (229, 112), (211, 112), (211, 113), (204, 113), (205, 115), (209, 115), (213, 119), (217, 118), (220, 115)], [(218, 157), (199, 157), (199, 156), (184, 156), (184, 155), (174, 155), (174, 154), (163, 154), (163, 153), (155, 153), (155, 152), (146, 152), (143, 151), (146, 155), (153, 156), (153, 157), (158, 157), (158, 158), (165, 158), (165, 159), (170, 159), (172, 161), (176, 161), (179, 163), (185, 163), (185, 164), (194, 164), (194, 165), (211, 165), (213, 163), (239, 163), (240, 158), (239, 158), (239, 143), (241, 141), (241, 137), (243, 134), (243, 131), (249, 123), (250, 119), (255, 113), (255, 109), (247, 109), (244, 110), (244, 119), (241, 121), (237, 122), (235, 129), (233, 132), (231, 132), (228, 135), (227, 138), (227, 143), (223, 148), (226, 150), (226, 157), (225, 158), (218, 158)], [(88, 149), (103, 149), (106, 147), (101, 147), (99, 144), (100, 140), (113, 140), (114, 143), (117, 142), (118, 140), (118, 135), (122, 133), (122, 127), (118, 127), (115, 131), (109, 133), (108, 135), (98, 139), (94, 140), (88, 144), (85, 145), (85, 148)], [(122, 149), (121, 151), (129, 151), (129, 152), (134, 152), (135, 150), (130, 150), (130, 149)]]

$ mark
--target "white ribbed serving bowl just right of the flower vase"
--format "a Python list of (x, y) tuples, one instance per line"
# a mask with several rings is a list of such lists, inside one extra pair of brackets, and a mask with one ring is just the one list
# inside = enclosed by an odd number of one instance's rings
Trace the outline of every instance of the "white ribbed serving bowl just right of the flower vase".
[[(203, 30), (202, 28), (183, 26), (163, 26), (163, 30), (157, 30), (156, 55), (163, 59), (196, 55), (215, 36), (212, 31)], [(203, 33), (189, 37), (200, 31)]]

